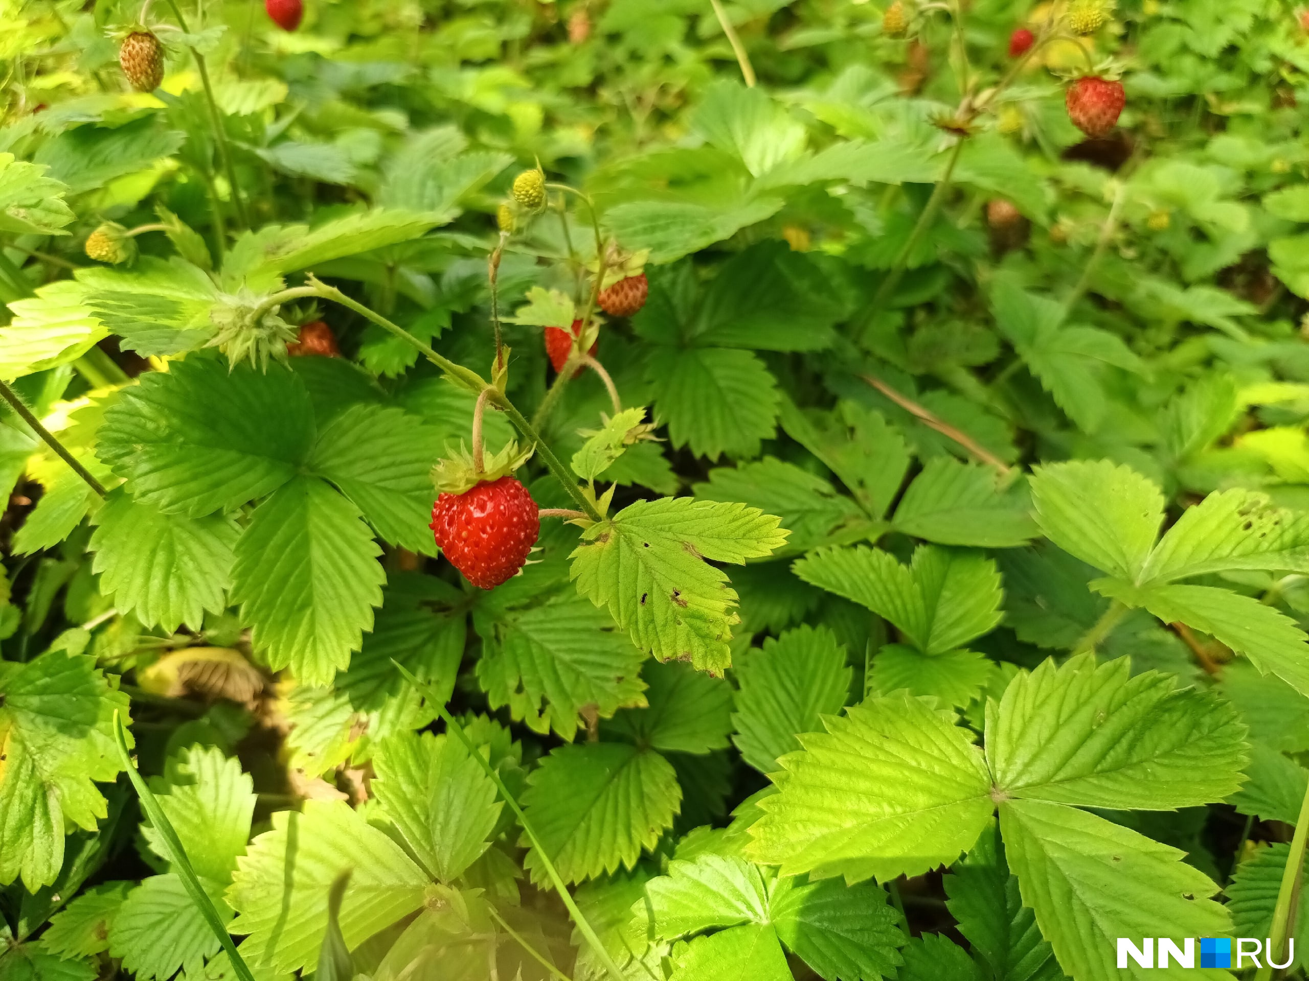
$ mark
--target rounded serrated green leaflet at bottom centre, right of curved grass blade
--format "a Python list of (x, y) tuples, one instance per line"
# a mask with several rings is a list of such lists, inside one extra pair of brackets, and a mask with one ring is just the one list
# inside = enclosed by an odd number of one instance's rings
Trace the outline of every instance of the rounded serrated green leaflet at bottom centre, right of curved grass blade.
[[(524, 810), (564, 882), (631, 869), (673, 827), (682, 800), (668, 760), (626, 743), (562, 746), (528, 783)], [(534, 882), (546, 879), (535, 849), (525, 866)]]

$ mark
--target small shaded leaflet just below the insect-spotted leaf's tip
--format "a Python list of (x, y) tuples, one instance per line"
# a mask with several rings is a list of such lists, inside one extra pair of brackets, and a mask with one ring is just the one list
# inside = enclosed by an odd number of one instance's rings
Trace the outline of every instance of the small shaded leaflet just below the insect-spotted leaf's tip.
[(644, 709), (624, 709), (605, 726), (637, 746), (683, 753), (707, 753), (728, 746), (732, 688), (681, 662), (647, 661)]

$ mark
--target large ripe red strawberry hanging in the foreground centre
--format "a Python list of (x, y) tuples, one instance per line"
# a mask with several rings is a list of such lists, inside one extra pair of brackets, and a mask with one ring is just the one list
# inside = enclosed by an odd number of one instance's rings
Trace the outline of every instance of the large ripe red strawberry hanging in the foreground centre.
[(450, 565), (488, 590), (526, 564), (541, 535), (541, 517), (528, 488), (500, 477), (462, 494), (442, 493), (432, 506), (431, 528)]

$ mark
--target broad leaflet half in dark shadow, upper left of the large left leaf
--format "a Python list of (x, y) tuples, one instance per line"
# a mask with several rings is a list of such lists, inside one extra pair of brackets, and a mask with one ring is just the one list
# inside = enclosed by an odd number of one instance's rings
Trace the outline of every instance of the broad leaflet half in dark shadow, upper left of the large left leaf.
[(313, 443), (304, 383), (291, 370), (174, 361), (126, 388), (105, 413), (99, 459), (137, 500), (199, 518), (291, 480)]

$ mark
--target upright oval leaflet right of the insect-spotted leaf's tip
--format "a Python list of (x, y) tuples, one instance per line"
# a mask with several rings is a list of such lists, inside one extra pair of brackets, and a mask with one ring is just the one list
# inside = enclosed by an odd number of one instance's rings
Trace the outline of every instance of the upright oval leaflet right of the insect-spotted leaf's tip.
[(819, 731), (821, 715), (840, 712), (852, 675), (836, 636), (808, 624), (746, 651), (733, 674), (740, 691), (732, 742), (761, 773), (775, 772), (779, 757), (800, 748), (797, 735)]

